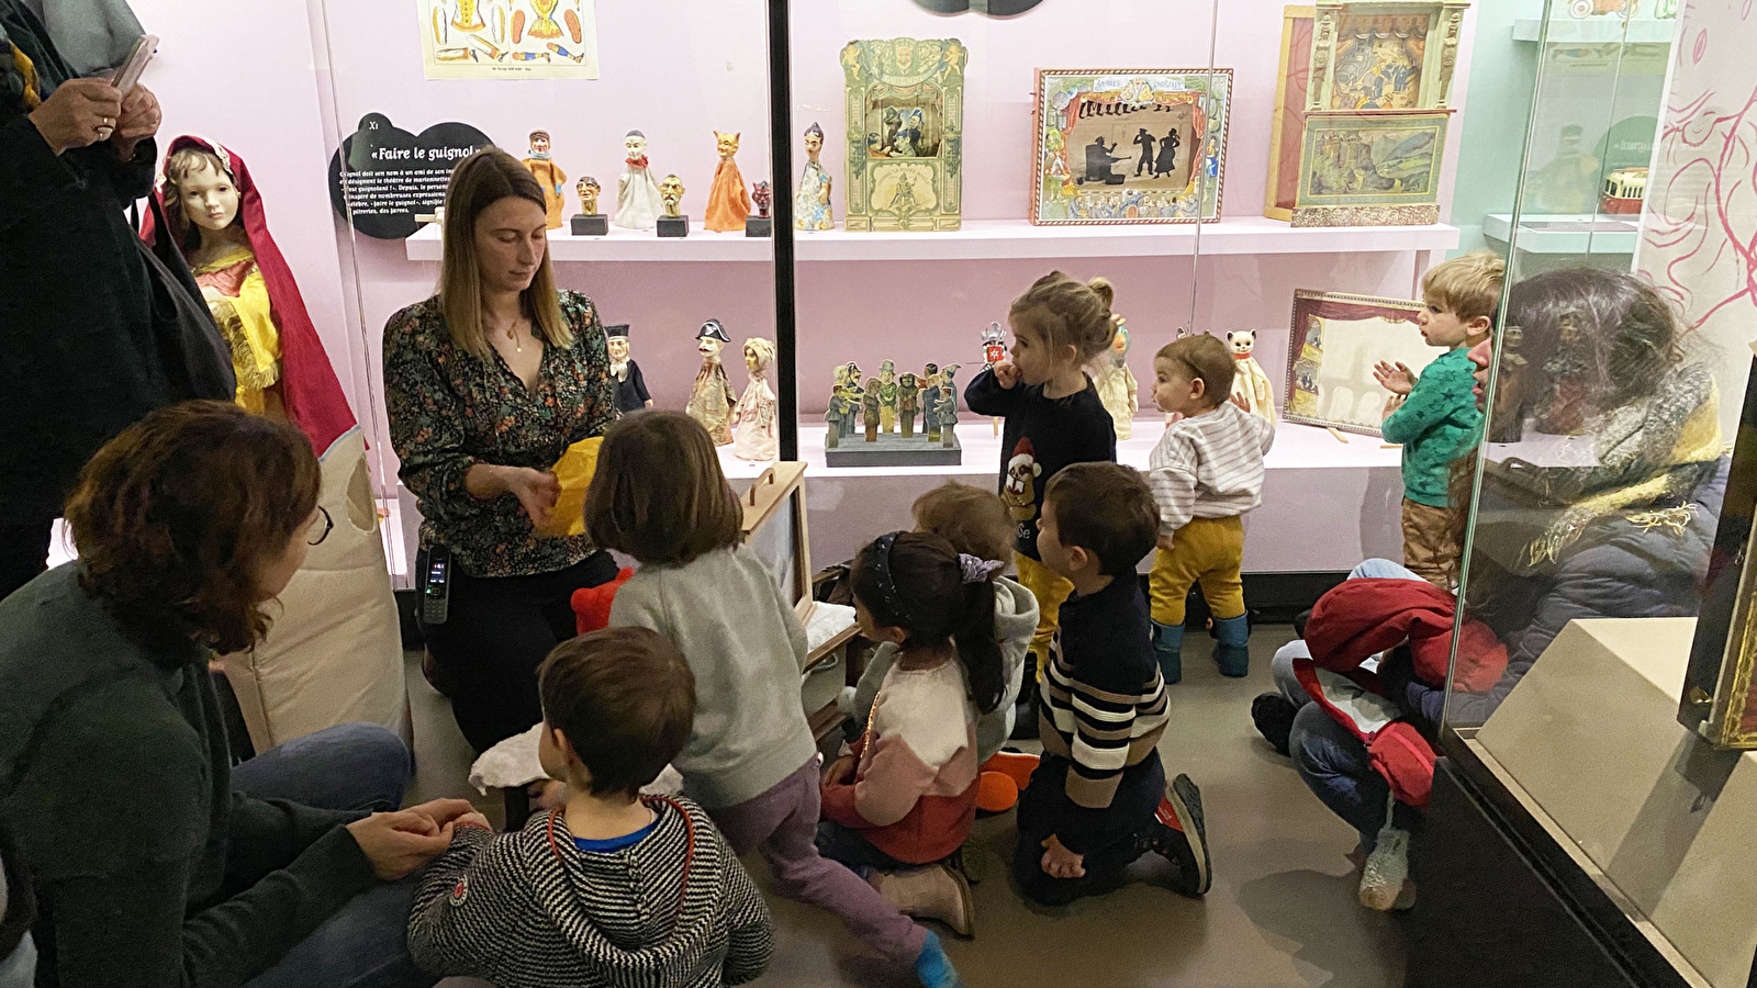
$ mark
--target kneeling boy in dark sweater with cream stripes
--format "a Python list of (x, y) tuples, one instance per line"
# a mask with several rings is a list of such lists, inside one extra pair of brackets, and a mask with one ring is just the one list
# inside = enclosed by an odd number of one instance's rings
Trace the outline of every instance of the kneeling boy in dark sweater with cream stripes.
[(1045, 670), (1044, 759), (1019, 800), (1014, 854), (1019, 888), (1044, 905), (1105, 891), (1147, 851), (1177, 867), (1179, 893), (1200, 897), (1211, 884), (1202, 793), (1188, 775), (1167, 786), (1160, 765), (1167, 694), (1135, 577), (1158, 533), (1153, 490), (1126, 466), (1070, 466), (1044, 494), (1037, 548), (1074, 584)]

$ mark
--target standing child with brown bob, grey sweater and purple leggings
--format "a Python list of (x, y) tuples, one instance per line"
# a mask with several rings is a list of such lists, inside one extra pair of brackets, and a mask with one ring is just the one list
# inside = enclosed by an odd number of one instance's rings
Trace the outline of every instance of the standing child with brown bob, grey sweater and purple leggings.
[(610, 626), (676, 642), (696, 673), (696, 719), (673, 759), (683, 793), (733, 853), (761, 851), (777, 890), (842, 916), (928, 986), (959, 984), (938, 937), (817, 853), (817, 745), (799, 703), (805, 628), (743, 545), (743, 512), (706, 429), (680, 411), (638, 411), (604, 434), (585, 498), (594, 545), (640, 561)]

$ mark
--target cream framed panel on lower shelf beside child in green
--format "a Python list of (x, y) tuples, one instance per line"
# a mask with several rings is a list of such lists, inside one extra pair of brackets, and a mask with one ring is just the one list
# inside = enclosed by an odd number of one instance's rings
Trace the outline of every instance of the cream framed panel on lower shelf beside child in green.
[(1421, 339), (1420, 313), (1411, 299), (1293, 292), (1284, 418), (1377, 436), (1390, 392), (1372, 366), (1402, 362), (1420, 373), (1442, 353)]

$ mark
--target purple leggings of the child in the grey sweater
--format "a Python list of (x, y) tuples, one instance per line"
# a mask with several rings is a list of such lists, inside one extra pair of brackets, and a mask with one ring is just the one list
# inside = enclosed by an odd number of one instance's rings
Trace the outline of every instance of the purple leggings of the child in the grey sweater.
[(914, 965), (928, 932), (896, 911), (847, 867), (817, 853), (817, 759), (754, 800), (708, 810), (734, 854), (752, 849), (775, 875), (775, 888), (796, 902), (828, 909), (886, 958)]

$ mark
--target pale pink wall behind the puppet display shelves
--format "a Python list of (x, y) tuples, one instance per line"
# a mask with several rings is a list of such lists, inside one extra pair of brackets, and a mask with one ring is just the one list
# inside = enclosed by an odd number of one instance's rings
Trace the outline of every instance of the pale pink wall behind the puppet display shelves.
[[(401, 243), (351, 237), (329, 209), (329, 155), (362, 114), (385, 113), (411, 132), (466, 121), (515, 153), (541, 127), (553, 134), (557, 162), (571, 178), (594, 174), (606, 185), (620, 169), (622, 134), (641, 128), (655, 171), (680, 174), (696, 213), (713, 174), (713, 128), (741, 130), (738, 160), (747, 181), (768, 178), (761, 0), (599, 2), (597, 81), (427, 81), (411, 0), (134, 2), (148, 30), (163, 37), (149, 83), (165, 100), (167, 134), (206, 134), (251, 162), (276, 237), (357, 411), (378, 436), (381, 327), (397, 308), (432, 292), (436, 265), (409, 262)], [(1228, 4), (1218, 32), (1212, 11), (1163, 0), (1045, 0), (1026, 16), (991, 19), (942, 18), (908, 0), (796, 2), (794, 130), (815, 120), (831, 134), (824, 163), (836, 176), (840, 216), (836, 53), (856, 37), (959, 37), (972, 51), (965, 214), (1016, 218), (1026, 211), (1038, 65), (1205, 67), (1212, 35), (1212, 63), (1235, 70), (1223, 211), (1253, 216), (1263, 195), (1281, 4)], [(1469, 46), (1469, 32), (1465, 39)], [(1469, 63), (1464, 54), (1460, 72)], [(1460, 77), (1455, 102), (1462, 104), (1464, 90)], [(796, 148), (796, 155), (803, 153)], [(1135, 332), (1137, 376), (1147, 376), (1153, 350), (1175, 327), (1195, 325), (1258, 329), (1258, 359), (1279, 380), (1293, 288), (1407, 295), (1423, 264), (1414, 253), (1362, 253), (1063, 267), (1117, 283), (1117, 311)], [(1005, 320), (1009, 301), (1051, 267), (1042, 260), (801, 265), (798, 369), (806, 417), (822, 411), (829, 371), (849, 359), (866, 367), (887, 357), (900, 366), (977, 362), (979, 331)], [(682, 406), (687, 397), (698, 364), (692, 336), (703, 318), (720, 318), (734, 338), (773, 334), (768, 264), (562, 264), (559, 278), (592, 294), (608, 322), (634, 325), (636, 359), (661, 404)], [(733, 378), (741, 383), (741, 371)], [(376, 448), (388, 455), (385, 441)]]

